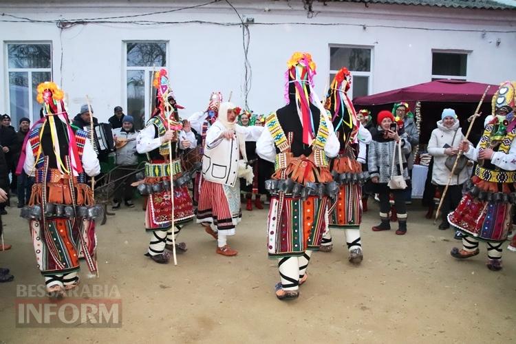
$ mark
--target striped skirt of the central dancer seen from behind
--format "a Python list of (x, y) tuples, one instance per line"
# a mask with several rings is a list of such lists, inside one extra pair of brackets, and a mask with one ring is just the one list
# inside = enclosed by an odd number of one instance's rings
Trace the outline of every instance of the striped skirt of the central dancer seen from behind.
[(269, 257), (298, 257), (319, 250), (328, 224), (327, 197), (306, 200), (272, 195), (268, 215)]

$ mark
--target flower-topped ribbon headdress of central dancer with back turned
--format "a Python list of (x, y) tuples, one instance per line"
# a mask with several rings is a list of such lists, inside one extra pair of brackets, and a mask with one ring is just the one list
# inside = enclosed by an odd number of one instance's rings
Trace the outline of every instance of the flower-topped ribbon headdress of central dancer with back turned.
[(314, 121), (310, 103), (312, 103), (312, 89), (314, 87), (314, 76), (316, 65), (312, 56), (306, 52), (294, 52), (287, 63), (285, 73), (285, 98), (290, 103), (289, 89), (294, 85), (297, 114), (303, 125), (303, 143), (312, 144), (315, 138)]

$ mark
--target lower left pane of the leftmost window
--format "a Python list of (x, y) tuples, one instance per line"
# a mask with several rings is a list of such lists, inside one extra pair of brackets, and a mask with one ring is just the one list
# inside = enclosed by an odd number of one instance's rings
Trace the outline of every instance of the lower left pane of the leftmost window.
[(9, 72), (9, 103), (11, 123), (29, 116), (29, 73)]

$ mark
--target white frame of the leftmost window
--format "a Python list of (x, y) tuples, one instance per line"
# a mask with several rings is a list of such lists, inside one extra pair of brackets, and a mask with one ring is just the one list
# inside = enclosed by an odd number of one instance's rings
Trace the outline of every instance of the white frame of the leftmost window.
[[(9, 67), (9, 45), (28, 45), (28, 44), (38, 44), (38, 45), (50, 45), (50, 68), (12, 68)], [(9, 116), (13, 117), (13, 114), (11, 114), (11, 87), (10, 87), (10, 73), (11, 72), (27, 72), (28, 73), (28, 80), (29, 80), (29, 118), (31, 122), (33, 123), (34, 120), (39, 118), (34, 118), (34, 108), (33, 108), (33, 99), (32, 94), (34, 92), (34, 89), (32, 87), (32, 73), (33, 72), (50, 72), (50, 80), (54, 80), (54, 44), (53, 41), (3, 41), (3, 56), (4, 56), (4, 63), (6, 66), (6, 78), (5, 78), (5, 89), (6, 89), (6, 109), (8, 109)], [(11, 125), (16, 125), (16, 122), (19, 120), (19, 118), (15, 118), (15, 120), (11, 121)], [(14, 126), (13, 126), (14, 127)]]

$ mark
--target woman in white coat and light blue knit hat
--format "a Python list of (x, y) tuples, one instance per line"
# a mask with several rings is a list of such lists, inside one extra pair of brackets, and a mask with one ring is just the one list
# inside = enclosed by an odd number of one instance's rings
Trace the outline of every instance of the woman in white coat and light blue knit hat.
[[(428, 152), (433, 155), (432, 184), (438, 186), (441, 194), (444, 191), (451, 171), (444, 162), (449, 156), (457, 155), (460, 142), (464, 139), (464, 134), (459, 127), (459, 120), (453, 109), (444, 109), (441, 120), (437, 122), (437, 128), (433, 129), (430, 141), (428, 142)], [(462, 184), (469, 178), (468, 168), (464, 168), (455, 173), (450, 180), (448, 191), (442, 202), (442, 222), (439, 229), (445, 230), (450, 227), (448, 213), (454, 211), (462, 197)]]

